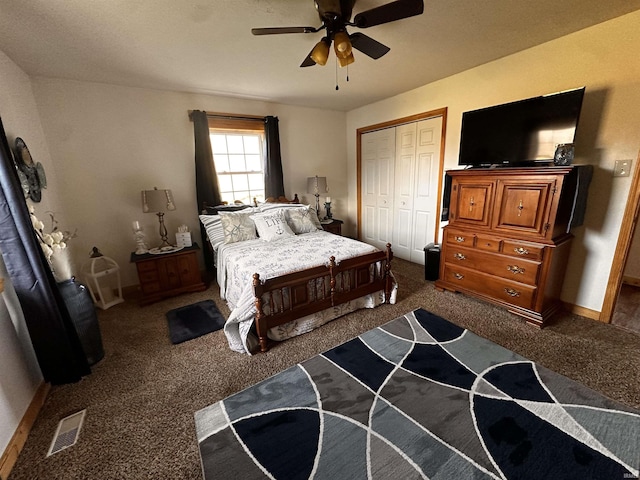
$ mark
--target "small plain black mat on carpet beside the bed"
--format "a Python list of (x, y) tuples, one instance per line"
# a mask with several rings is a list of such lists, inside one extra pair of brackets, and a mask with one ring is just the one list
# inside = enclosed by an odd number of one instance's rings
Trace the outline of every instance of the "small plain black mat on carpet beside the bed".
[(182, 343), (220, 330), (225, 319), (213, 300), (174, 308), (167, 312), (171, 343)]

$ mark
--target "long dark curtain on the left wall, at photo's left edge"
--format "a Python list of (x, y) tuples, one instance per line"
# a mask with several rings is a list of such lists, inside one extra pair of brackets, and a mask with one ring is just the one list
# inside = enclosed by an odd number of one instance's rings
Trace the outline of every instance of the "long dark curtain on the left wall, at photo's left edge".
[(77, 382), (87, 358), (40, 249), (0, 119), (0, 250), (45, 381)]

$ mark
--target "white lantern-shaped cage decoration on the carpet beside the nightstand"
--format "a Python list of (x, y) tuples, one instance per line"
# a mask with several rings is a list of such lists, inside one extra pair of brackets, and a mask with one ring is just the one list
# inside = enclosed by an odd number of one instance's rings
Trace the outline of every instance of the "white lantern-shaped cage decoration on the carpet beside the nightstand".
[(98, 249), (94, 247), (94, 253), (91, 255), (91, 259), (83, 265), (82, 273), (96, 306), (106, 310), (124, 302), (120, 267), (115, 260), (100, 254)]

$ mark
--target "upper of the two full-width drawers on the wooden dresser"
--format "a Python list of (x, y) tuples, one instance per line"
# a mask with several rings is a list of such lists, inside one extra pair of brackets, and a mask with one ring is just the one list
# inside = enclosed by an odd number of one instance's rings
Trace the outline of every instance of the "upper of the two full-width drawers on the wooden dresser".
[(528, 285), (535, 285), (538, 279), (538, 262), (452, 245), (446, 246), (444, 254), (444, 261), (455, 267), (479, 270)]

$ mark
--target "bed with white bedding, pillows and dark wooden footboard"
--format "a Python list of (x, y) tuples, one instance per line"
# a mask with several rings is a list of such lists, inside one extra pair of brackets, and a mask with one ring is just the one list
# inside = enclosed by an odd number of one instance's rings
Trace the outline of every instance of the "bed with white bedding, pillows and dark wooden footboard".
[(315, 210), (265, 203), (200, 215), (231, 314), (232, 350), (266, 352), (361, 308), (395, 303), (391, 245), (384, 251), (322, 230)]

